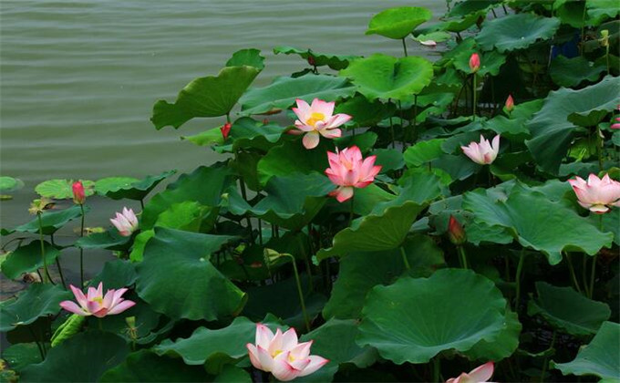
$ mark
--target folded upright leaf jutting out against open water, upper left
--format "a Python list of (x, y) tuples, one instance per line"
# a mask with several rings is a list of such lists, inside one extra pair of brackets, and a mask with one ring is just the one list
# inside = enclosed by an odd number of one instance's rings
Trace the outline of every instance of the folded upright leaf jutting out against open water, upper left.
[(157, 101), (150, 120), (156, 129), (168, 125), (178, 129), (195, 117), (230, 113), (259, 72), (257, 67), (224, 67), (217, 77), (196, 78), (181, 89), (174, 104)]

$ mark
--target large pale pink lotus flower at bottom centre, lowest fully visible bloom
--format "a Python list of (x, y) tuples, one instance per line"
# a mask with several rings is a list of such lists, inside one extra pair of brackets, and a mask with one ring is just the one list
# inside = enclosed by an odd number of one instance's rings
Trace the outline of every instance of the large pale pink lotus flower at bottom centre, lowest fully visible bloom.
[(313, 341), (298, 342), (294, 328), (284, 334), (278, 328), (274, 335), (267, 326), (257, 323), (255, 345), (248, 343), (245, 347), (253, 367), (288, 381), (310, 375), (329, 362), (325, 357), (310, 355)]

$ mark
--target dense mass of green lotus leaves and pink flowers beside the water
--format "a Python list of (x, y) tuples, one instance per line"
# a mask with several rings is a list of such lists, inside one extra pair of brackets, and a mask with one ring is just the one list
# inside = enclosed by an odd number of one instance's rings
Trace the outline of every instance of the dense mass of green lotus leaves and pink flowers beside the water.
[[(253, 88), (244, 49), (157, 101), (156, 129), (226, 117), (182, 138), (217, 163), (39, 184), (2, 229), (3, 274), (40, 280), (0, 305), (0, 377), (620, 379), (620, 8), (448, 5), (369, 20), (403, 57), (276, 47), (300, 70)], [(142, 208), (87, 232), (98, 198)], [(49, 276), (71, 248), (118, 259), (71, 294)]]

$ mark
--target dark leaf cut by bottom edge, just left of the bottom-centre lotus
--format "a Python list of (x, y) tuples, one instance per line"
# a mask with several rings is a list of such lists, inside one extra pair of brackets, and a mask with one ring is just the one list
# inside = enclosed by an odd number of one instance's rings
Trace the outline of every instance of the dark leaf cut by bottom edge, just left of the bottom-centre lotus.
[(129, 354), (119, 366), (106, 371), (101, 382), (203, 382), (202, 367), (192, 367), (180, 359), (158, 357), (142, 349)]

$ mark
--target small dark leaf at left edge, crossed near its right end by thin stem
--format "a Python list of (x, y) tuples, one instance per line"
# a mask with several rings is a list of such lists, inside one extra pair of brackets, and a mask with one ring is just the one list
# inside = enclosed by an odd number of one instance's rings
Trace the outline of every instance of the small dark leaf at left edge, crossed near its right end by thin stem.
[[(53, 264), (60, 255), (58, 249), (50, 243), (44, 242), (47, 265)], [(9, 279), (15, 279), (21, 274), (33, 272), (43, 267), (41, 257), (41, 243), (36, 240), (24, 246), (19, 246), (15, 251), (8, 254), (2, 263), (2, 274)]]

